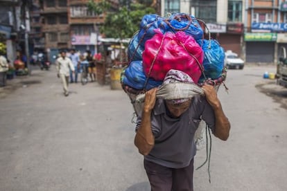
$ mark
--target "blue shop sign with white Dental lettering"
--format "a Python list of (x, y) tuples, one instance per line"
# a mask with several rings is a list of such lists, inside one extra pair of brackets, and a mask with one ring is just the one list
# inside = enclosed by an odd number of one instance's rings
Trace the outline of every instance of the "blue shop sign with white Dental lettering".
[(286, 23), (252, 23), (252, 30), (270, 30), (270, 32), (287, 32)]

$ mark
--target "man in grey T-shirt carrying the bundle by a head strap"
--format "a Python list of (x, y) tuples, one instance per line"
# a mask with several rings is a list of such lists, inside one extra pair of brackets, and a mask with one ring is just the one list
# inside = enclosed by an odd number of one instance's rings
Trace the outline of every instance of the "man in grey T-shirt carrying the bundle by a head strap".
[[(175, 88), (166, 93), (180, 96), (180, 86), (193, 80), (182, 71), (168, 71), (163, 84)], [(196, 86), (196, 85), (195, 85)], [(204, 120), (214, 136), (229, 137), (230, 123), (223, 113), (216, 90), (204, 85), (205, 97), (164, 100), (156, 98), (157, 88), (146, 92), (143, 110), (137, 118), (134, 144), (143, 154), (144, 168), (151, 190), (193, 190), (193, 158), (195, 130)]]

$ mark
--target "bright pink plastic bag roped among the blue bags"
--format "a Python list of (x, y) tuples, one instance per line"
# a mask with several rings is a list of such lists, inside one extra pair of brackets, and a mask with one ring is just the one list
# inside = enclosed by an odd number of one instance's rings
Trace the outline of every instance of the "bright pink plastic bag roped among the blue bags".
[(184, 71), (198, 83), (204, 55), (195, 39), (182, 31), (162, 34), (155, 29), (155, 32), (153, 38), (146, 41), (143, 51), (143, 70), (146, 76), (164, 80), (170, 69), (176, 69)]

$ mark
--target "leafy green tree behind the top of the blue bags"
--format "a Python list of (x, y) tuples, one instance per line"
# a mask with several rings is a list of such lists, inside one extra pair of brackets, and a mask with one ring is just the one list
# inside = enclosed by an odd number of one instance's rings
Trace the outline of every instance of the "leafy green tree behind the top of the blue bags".
[[(105, 1), (105, 0), (103, 0)], [(112, 11), (107, 6), (103, 7), (106, 3), (94, 3), (90, 0), (88, 3), (89, 10), (92, 10), (96, 15), (106, 12), (105, 22), (100, 26), (100, 32), (105, 34), (106, 37), (112, 38), (130, 38), (139, 30), (141, 18), (146, 14), (155, 13), (155, 9), (147, 6), (152, 1), (141, 1), (142, 3), (130, 3), (130, 1), (121, 1), (123, 6), (116, 11)], [(105, 1), (106, 2), (106, 1)]]

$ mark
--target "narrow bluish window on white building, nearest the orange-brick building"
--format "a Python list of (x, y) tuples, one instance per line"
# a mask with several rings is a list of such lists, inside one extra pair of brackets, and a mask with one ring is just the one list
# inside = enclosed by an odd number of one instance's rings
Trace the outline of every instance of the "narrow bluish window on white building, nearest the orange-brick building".
[(242, 21), (242, 1), (228, 1), (228, 21)]

